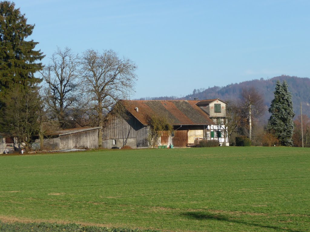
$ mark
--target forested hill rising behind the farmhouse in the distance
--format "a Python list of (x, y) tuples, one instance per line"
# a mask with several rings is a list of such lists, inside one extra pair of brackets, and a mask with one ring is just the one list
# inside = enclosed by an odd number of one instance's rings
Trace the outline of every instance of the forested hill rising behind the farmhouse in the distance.
[[(281, 82), (286, 80), (289, 85), (289, 91), (292, 93), (293, 97), (293, 105), (294, 112), (296, 117), (300, 115), (300, 102), (303, 105), (303, 114), (307, 114), (310, 117), (310, 79), (309, 78), (300, 78), (296, 76), (286, 76), (281, 75), (277, 77), (273, 77), (271, 79), (263, 79), (260, 80), (250, 80), (244, 81), (239, 84), (228, 84), (224, 87), (214, 86), (211, 88), (201, 88), (194, 89), (192, 94), (188, 94), (183, 98), (176, 97), (156, 97), (152, 98), (153, 100), (171, 100), (171, 99), (186, 99), (186, 100), (194, 100), (194, 98), (199, 99), (212, 99), (212, 98), (220, 98), (222, 100), (233, 99), (237, 100), (240, 97), (240, 93), (242, 88), (251, 88), (255, 87), (264, 97), (265, 104), (269, 108), (272, 99), (274, 98), (273, 91), (276, 86), (277, 80)], [(206, 80), (206, 85), (208, 82)], [(266, 115), (267, 116), (267, 115)], [(295, 118), (296, 118), (295, 117)]]

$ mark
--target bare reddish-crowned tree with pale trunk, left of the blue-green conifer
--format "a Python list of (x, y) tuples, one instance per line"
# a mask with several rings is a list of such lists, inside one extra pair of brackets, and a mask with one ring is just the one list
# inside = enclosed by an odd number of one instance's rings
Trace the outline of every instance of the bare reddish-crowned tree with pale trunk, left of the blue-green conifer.
[(263, 96), (254, 87), (243, 89), (241, 92), (241, 107), (245, 110), (249, 123), (249, 139), (252, 140), (252, 120), (260, 116), (263, 110), (266, 109)]

